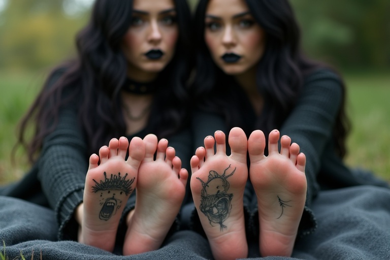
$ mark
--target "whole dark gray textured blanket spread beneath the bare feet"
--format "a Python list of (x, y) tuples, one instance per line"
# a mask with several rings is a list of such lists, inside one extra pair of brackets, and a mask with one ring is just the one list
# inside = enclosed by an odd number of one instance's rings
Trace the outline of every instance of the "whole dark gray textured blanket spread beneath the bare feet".
[[(374, 186), (321, 191), (312, 207), (316, 232), (299, 239), (293, 257), (260, 257), (251, 241), (251, 258), (258, 259), (390, 259), (390, 190)], [(212, 259), (207, 240), (180, 231), (156, 251), (121, 256), (56, 239), (54, 214), (18, 199), (0, 197), (0, 239), (9, 259)], [(3, 250), (2, 250), (3, 251)]]

